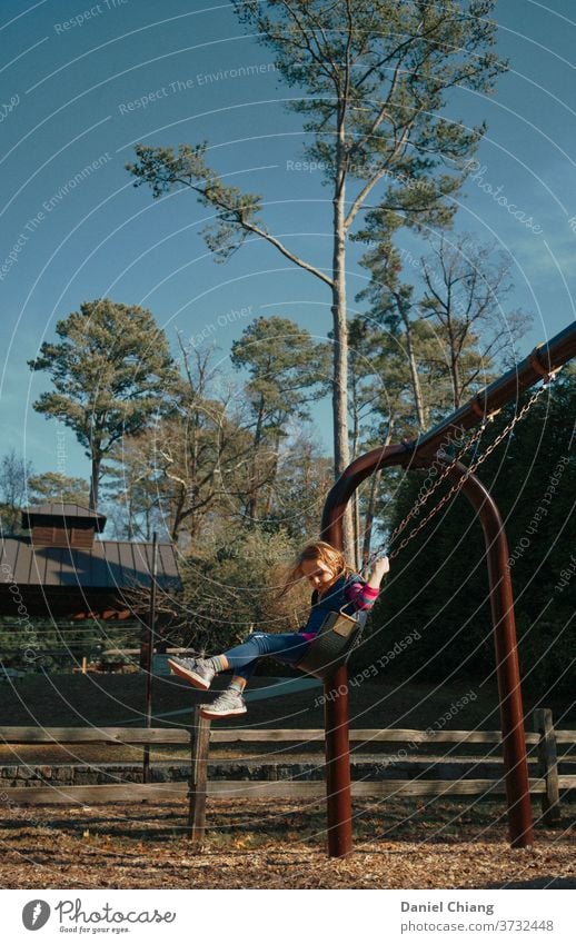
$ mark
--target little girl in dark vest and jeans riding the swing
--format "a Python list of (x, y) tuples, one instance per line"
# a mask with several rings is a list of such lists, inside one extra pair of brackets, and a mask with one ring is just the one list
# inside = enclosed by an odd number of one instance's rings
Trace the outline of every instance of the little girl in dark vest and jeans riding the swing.
[(231, 669), (229, 687), (211, 705), (202, 705), (201, 714), (207, 718), (241, 715), (246, 712), (242, 692), (259, 658), (274, 656), (278, 662), (296, 665), (329, 613), (344, 609), (344, 613), (352, 615), (356, 610), (374, 606), (383, 577), (389, 569), (388, 558), (383, 557), (375, 563), (368, 580), (363, 580), (348, 566), (340, 550), (324, 540), (315, 540), (306, 545), (294, 562), (280, 593), (284, 596), (301, 578), (312, 587), (310, 615), (298, 633), (251, 633), (239, 646), (219, 656), (200, 659), (172, 657), (168, 665), (175, 675), (203, 689), (210, 687), (217, 673)]

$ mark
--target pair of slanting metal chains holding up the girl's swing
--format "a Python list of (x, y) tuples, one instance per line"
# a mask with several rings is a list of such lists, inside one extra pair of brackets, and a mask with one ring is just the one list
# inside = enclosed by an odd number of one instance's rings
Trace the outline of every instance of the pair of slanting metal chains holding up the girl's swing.
[[(476, 469), (478, 468), (478, 466), (480, 466), (480, 465), (481, 465), (481, 463), (484, 463), (484, 461), (485, 461), (485, 459), (487, 459), (487, 458), (488, 458), (488, 456), (489, 456), (489, 455), (491, 455), (491, 453), (493, 453), (493, 451), (494, 451), (494, 450), (495, 450), (495, 449), (499, 446), (499, 444), (503, 441), (503, 439), (505, 439), (505, 438), (506, 438), (506, 437), (507, 437), (507, 436), (508, 436), (508, 435), (513, 431), (513, 429), (514, 429), (514, 427), (516, 426), (516, 424), (517, 424), (517, 423), (519, 423), (522, 419), (524, 419), (524, 417), (526, 416), (526, 414), (528, 413), (528, 410), (530, 410), (530, 409), (532, 409), (532, 407), (534, 406), (534, 404), (536, 403), (536, 400), (537, 400), (537, 399), (542, 396), (542, 394), (543, 394), (543, 392), (544, 392), (544, 391), (545, 391), (545, 390), (549, 387), (549, 385), (552, 384), (552, 381), (555, 379), (555, 375), (556, 375), (556, 372), (557, 372), (557, 371), (553, 371), (550, 375), (548, 375), (548, 377), (545, 379), (544, 384), (542, 384), (542, 386), (540, 386), (540, 387), (538, 387), (538, 389), (537, 389), (537, 390), (535, 390), (535, 391), (534, 391), (534, 394), (532, 394), (532, 396), (529, 397), (528, 401), (527, 401), (527, 403), (523, 406), (523, 408), (520, 409), (520, 411), (519, 411), (519, 413), (517, 413), (517, 414), (515, 414), (515, 415), (513, 416), (512, 420), (510, 420), (510, 421), (508, 423), (508, 425), (507, 425), (507, 426), (506, 426), (506, 427), (505, 427), (505, 428), (504, 428), (504, 429), (503, 429), (503, 430), (498, 434), (498, 436), (496, 436), (496, 438), (494, 439), (494, 441), (493, 441), (493, 443), (490, 443), (490, 444), (489, 444), (489, 446), (487, 446), (487, 448), (486, 448), (486, 450), (485, 450), (484, 453), (480, 453), (480, 455), (478, 456), (478, 458), (477, 458), (475, 461), (473, 461), (473, 463), (471, 463), (471, 465), (470, 465), (470, 466), (466, 469), (466, 471), (465, 471), (465, 473), (463, 473), (463, 475), (460, 476), (460, 478), (458, 479), (458, 481), (456, 481), (456, 483), (451, 486), (451, 488), (449, 489), (449, 491), (447, 491), (447, 493), (446, 493), (446, 495), (444, 495), (444, 496), (440, 498), (440, 500), (438, 501), (438, 504), (437, 504), (437, 505), (435, 505), (435, 506), (434, 506), (434, 508), (431, 508), (431, 509), (430, 509), (430, 511), (428, 511), (428, 514), (426, 515), (426, 517), (425, 517), (425, 518), (423, 518), (423, 519), (421, 519), (421, 521), (419, 521), (419, 523), (418, 523), (418, 525), (417, 525), (415, 528), (413, 528), (413, 529), (411, 529), (411, 531), (410, 531), (410, 533), (409, 533), (409, 534), (408, 534), (405, 538), (403, 538), (403, 540), (400, 541), (400, 544), (398, 545), (398, 547), (397, 547), (397, 548), (395, 548), (393, 552), (387, 553), (387, 557), (388, 557), (390, 560), (393, 560), (395, 557), (397, 557), (397, 556), (398, 556), (398, 554), (400, 554), (400, 552), (401, 552), (401, 550), (404, 550), (404, 548), (405, 548), (405, 547), (406, 547), (406, 546), (407, 546), (407, 545), (408, 545), (408, 544), (413, 540), (413, 538), (415, 538), (415, 537), (416, 537), (416, 535), (417, 535), (417, 534), (418, 534), (418, 533), (419, 533), (419, 531), (420, 531), (424, 527), (426, 527), (426, 525), (428, 524), (428, 521), (430, 521), (430, 520), (431, 520), (431, 519), (433, 519), (433, 518), (434, 518), (434, 517), (435, 517), (435, 516), (436, 516), (436, 515), (437, 515), (437, 514), (441, 510), (441, 508), (444, 508), (444, 506), (445, 506), (445, 505), (446, 505), (446, 504), (450, 500), (450, 498), (451, 498), (454, 495), (456, 495), (457, 493), (459, 493), (459, 491), (460, 491), (460, 489), (464, 487), (464, 484), (465, 484), (466, 479), (467, 479), (470, 475), (473, 475), (473, 474), (476, 471)], [(455, 456), (453, 459), (450, 459), (450, 461), (449, 461), (449, 463), (447, 463), (447, 464), (444, 466), (444, 470), (443, 470), (443, 473), (441, 473), (441, 474), (438, 476), (438, 478), (437, 478), (437, 479), (433, 483), (433, 485), (431, 485), (431, 486), (430, 486), (430, 487), (429, 487), (429, 488), (425, 491), (425, 494), (424, 494), (421, 497), (419, 497), (419, 498), (417, 499), (417, 501), (416, 501), (416, 503), (415, 503), (415, 505), (410, 508), (410, 510), (408, 511), (408, 514), (407, 514), (407, 515), (403, 518), (403, 520), (400, 521), (400, 524), (399, 524), (399, 525), (397, 525), (397, 527), (394, 529), (394, 531), (393, 531), (393, 534), (390, 535), (390, 537), (388, 538), (388, 540), (387, 540), (385, 544), (380, 545), (380, 546), (379, 546), (379, 547), (378, 547), (378, 548), (377, 548), (377, 549), (376, 549), (376, 550), (375, 550), (375, 552), (370, 555), (367, 566), (369, 566), (370, 564), (373, 564), (373, 563), (374, 563), (374, 560), (376, 560), (378, 557), (380, 557), (380, 556), (383, 555), (383, 550), (384, 550), (384, 548), (385, 548), (385, 547), (389, 547), (389, 546), (390, 546), (390, 545), (391, 545), (391, 544), (396, 540), (396, 538), (397, 538), (397, 537), (398, 537), (398, 536), (399, 536), (399, 535), (400, 535), (400, 534), (405, 530), (405, 528), (406, 528), (406, 526), (408, 525), (408, 523), (409, 523), (409, 521), (410, 521), (410, 520), (411, 520), (411, 519), (413, 519), (416, 515), (418, 515), (418, 513), (419, 513), (420, 508), (423, 508), (423, 507), (426, 505), (426, 503), (428, 501), (428, 499), (430, 498), (430, 496), (431, 496), (431, 495), (434, 495), (434, 493), (436, 491), (436, 489), (438, 488), (438, 486), (439, 486), (439, 485), (444, 481), (444, 479), (446, 479), (446, 478), (448, 477), (448, 475), (449, 475), (449, 474), (450, 474), (450, 471), (455, 468), (455, 466), (457, 465), (457, 463), (459, 463), (459, 461), (460, 461), (460, 458), (465, 455), (465, 453), (467, 453), (467, 451), (470, 449), (470, 447), (471, 447), (471, 446), (474, 446), (474, 445), (475, 445), (475, 444), (479, 440), (479, 438), (481, 437), (481, 435), (483, 435), (484, 430), (486, 429), (487, 423), (490, 423), (490, 421), (494, 419), (494, 417), (496, 416), (496, 414), (497, 414), (497, 413), (499, 413), (499, 410), (496, 410), (495, 413), (490, 414), (490, 415), (486, 418), (486, 420), (485, 420), (484, 423), (481, 423), (481, 424), (480, 424), (480, 426), (478, 427), (478, 429), (477, 429), (477, 430), (475, 430), (475, 433), (471, 435), (471, 437), (468, 439), (468, 441), (467, 441), (467, 443), (466, 443), (466, 444), (465, 444), (465, 445), (464, 445), (464, 446), (463, 446), (463, 447), (458, 450), (458, 453), (456, 454), (456, 456)], [(437, 457), (438, 457), (439, 459), (443, 459), (443, 458), (445, 458), (445, 454), (439, 451), (439, 453), (437, 454)]]

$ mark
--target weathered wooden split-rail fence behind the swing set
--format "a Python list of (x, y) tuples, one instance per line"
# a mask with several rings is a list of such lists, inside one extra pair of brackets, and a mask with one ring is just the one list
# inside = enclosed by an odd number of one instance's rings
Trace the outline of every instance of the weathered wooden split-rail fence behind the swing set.
[[(552, 712), (542, 708), (534, 713), (534, 732), (526, 734), (526, 745), (535, 751), (538, 761), (538, 776), (529, 781), (530, 794), (540, 796), (543, 821), (553, 825), (560, 816), (560, 791), (576, 788), (576, 775), (558, 775), (558, 745), (576, 744), (576, 731), (555, 731)], [(410, 731), (400, 728), (355, 729), (350, 731), (350, 743), (368, 747), (373, 744), (408, 744), (410, 757), (417, 756), (421, 744), (450, 744), (449, 759), (466, 759), (453, 755), (453, 751), (470, 744), (499, 745), (498, 731)], [(191, 776), (189, 782), (173, 783), (121, 783), (95, 786), (41, 786), (6, 787), (0, 793), (0, 809), (14, 805), (40, 803), (81, 803), (98, 804), (116, 801), (169, 801), (187, 796), (189, 799), (190, 837), (198, 841), (206, 829), (206, 801), (208, 796), (237, 799), (290, 798), (312, 799), (325, 795), (322, 781), (279, 779), (279, 781), (209, 781), (208, 764), (210, 745), (215, 744), (257, 744), (278, 745), (291, 743), (307, 745), (311, 742), (324, 743), (322, 729), (244, 729), (211, 728), (208, 719), (201, 718), (195, 711), (191, 728), (36, 728), (0, 727), (0, 743), (4, 744), (123, 744), (130, 746), (147, 745), (187, 745), (190, 749)], [(361, 754), (354, 754), (361, 759)], [(421, 756), (421, 755), (420, 755)], [(262, 758), (260, 758), (262, 759)], [(289, 755), (286, 755), (289, 761)], [(478, 758), (467, 758), (471, 763), (481, 763)], [(487, 758), (484, 758), (487, 759)], [(495, 759), (489, 757), (489, 759)], [(383, 756), (384, 764), (394, 765), (394, 759)], [(504, 766), (501, 776), (493, 779), (423, 779), (415, 776), (409, 779), (363, 779), (352, 782), (355, 797), (397, 797), (397, 796), (493, 796), (505, 794)]]

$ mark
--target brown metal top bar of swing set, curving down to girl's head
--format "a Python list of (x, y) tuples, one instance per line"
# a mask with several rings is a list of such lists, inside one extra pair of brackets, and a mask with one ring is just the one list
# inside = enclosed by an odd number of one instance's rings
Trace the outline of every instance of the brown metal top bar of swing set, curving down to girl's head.
[(387, 466), (405, 468), (428, 468), (438, 450), (450, 444), (451, 439), (485, 423), (510, 400), (514, 400), (538, 380), (550, 378), (568, 360), (576, 357), (576, 324), (564, 328), (547, 344), (538, 345), (524, 360), (512, 370), (494, 380), (484, 390), (476, 394), (465, 406), (433, 427), (418, 439), (403, 440), (393, 446), (371, 449), (355, 459), (332, 486), (324, 506), (321, 537), (335, 547), (341, 548), (342, 516), (350, 496), (365, 478)]

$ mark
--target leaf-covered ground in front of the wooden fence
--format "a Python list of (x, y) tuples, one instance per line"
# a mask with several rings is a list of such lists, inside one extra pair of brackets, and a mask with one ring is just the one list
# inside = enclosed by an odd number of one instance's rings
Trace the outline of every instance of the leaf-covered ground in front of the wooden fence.
[[(355, 803), (354, 852), (326, 854), (321, 804), (211, 799), (201, 846), (186, 804), (1, 811), (4, 888), (576, 888), (574, 805), (510, 849), (501, 803)], [(534, 806), (537, 819), (538, 807)]]

